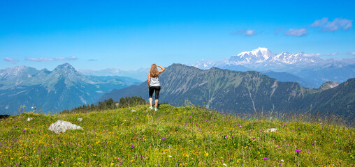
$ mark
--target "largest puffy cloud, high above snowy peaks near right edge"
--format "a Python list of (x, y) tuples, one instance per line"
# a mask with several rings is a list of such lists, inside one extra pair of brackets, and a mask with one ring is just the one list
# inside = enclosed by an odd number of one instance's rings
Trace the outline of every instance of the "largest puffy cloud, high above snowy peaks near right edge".
[(322, 31), (338, 31), (339, 29), (348, 30), (352, 28), (353, 19), (335, 18), (332, 22), (328, 21), (328, 17), (317, 19), (310, 26), (321, 27)]

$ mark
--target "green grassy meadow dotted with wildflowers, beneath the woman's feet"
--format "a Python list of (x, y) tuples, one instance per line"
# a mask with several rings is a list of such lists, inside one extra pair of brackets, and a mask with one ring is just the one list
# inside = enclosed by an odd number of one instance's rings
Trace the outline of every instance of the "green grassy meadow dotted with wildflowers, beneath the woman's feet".
[[(302, 120), (245, 120), (191, 106), (147, 109), (144, 105), (55, 116), (21, 113), (2, 119), (0, 166), (355, 164), (354, 128)], [(34, 120), (27, 122), (29, 117)], [(55, 134), (48, 127), (57, 120), (84, 130)], [(265, 132), (272, 127), (278, 131)]]

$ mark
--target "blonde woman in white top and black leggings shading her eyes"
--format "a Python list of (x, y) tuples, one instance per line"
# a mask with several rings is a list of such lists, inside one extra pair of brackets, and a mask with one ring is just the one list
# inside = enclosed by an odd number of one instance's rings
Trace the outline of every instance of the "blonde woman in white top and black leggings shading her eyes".
[[(160, 71), (158, 71), (158, 67), (161, 68)], [(153, 103), (153, 93), (155, 90), (155, 111), (158, 111), (158, 102), (159, 102), (159, 91), (160, 91), (160, 82), (159, 82), (159, 74), (161, 72), (164, 72), (165, 68), (161, 67), (160, 65), (152, 64), (150, 67), (150, 72), (148, 74), (148, 86), (149, 86), (149, 104), (150, 107), (149, 109), (153, 109), (152, 103)]]

